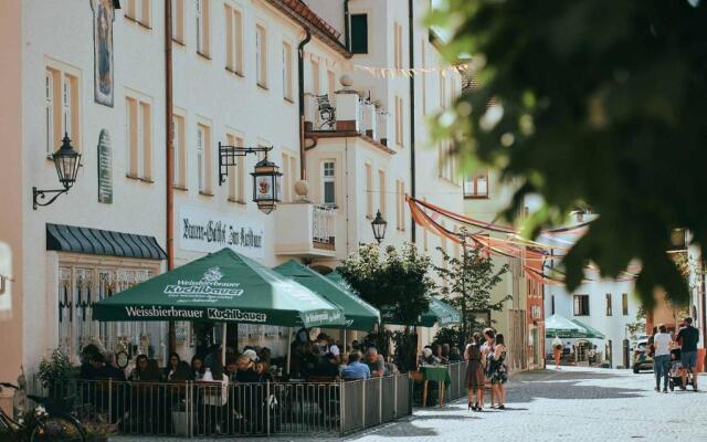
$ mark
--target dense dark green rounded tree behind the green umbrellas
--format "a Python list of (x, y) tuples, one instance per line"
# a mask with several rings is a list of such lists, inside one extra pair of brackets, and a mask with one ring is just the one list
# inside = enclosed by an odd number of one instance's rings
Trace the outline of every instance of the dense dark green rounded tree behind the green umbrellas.
[(366, 302), (379, 309), (391, 308), (413, 324), (430, 307), (431, 270), (430, 257), (408, 243), (400, 251), (388, 246), (383, 254), (378, 245), (361, 245), (337, 272)]

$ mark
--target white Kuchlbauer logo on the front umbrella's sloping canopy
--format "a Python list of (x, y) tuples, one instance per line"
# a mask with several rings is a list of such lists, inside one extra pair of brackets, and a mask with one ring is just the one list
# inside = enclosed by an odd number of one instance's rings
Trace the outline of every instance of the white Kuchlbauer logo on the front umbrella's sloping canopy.
[(177, 302), (214, 303), (218, 299), (241, 296), (240, 283), (221, 282), (224, 274), (218, 266), (209, 267), (200, 281), (179, 280), (165, 287), (165, 294)]

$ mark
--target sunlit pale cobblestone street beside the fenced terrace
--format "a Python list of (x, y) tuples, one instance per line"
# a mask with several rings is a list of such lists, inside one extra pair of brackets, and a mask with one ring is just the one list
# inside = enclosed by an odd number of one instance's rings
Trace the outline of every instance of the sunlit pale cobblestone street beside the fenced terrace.
[[(519, 373), (508, 385), (505, 411), (475, 413), (466, 410), (465, 401), (457, 401), (441, 409), (418, 409), (407, 420), (342, 440), (707, 441), (707, 394), (656, 393), (653, 379), (653, 373), (587, 368)], [(700, 381), (707, 387), (707, 377)]]

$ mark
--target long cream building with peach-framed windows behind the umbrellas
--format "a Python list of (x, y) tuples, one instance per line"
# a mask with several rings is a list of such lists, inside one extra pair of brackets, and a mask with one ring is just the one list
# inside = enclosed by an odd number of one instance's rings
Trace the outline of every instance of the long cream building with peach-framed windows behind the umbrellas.
[[(119, 10), (112, 3), (0, 2), (0, 379), (15, 378), (20, 366), (33, 370), (55, 347), (76, 358), (95, 337), (114, 349), (165, 356), (163, 324), (99, 325), (91, 319), (91, 304), (167, 270), (168, 117), (176, 265), (232, 246), (265, 265), (294, 257), (333, 269), (360, 242), (372, 241), (377, 210), (389, 222), (386, 244), (412, 235), (404, 203), (412, 185), (410, 81), (373, 78), (351, 64), (409, 65), (407, 1), (349, 1), (349, 21), (354, 13), (367, 15), (369, 42), (368, 52), (351, 54), (344, 11), (334, 2), (310, 1), (309, 9), (297, 0), (171, 0), (172, 115), (166, 106), (165, 2), (123, 0)], [(426, 2), (413, 3), (414, 17), (422, 17)], [(361, 18), (354, 20), (360, 27)], [(426, 28), (415, 24), (413, 40), (416, 66), (442, 64)], [(303, 178), (300, 44), (307, 194), (295, 192)], [(352, 80), (346, 87), (345, 73)], [(451, 103), (458, 85), (455, 75), (418, 77), (412, 106), (416, 196), (451, 210), (462, 209), (461, 187), (433, 167), (446, 159), (440, 161), (428, 143), (423, 122)], [(321, 119), (314, 95), (324, 94), (341, 130), (314, 126)], [(64, 133), (82, 154), (76, 182), (33, 210), (32, 187), (60, 186), (49, 158)], [(256, 156), (239, 159), (219, 182), (219, 143), (273, 147), (268, 158), (283, 172), (283, 201), (273, 213), (252, 202)], [(229, 243), (189, 228), (210, 222), (247, 240)], [(430, 251), (441, 243), (419, 229), (416, 241)], [(243, 333), (275, 351), (285, 348), (276, 329)], [(183, 356), (193, 352), (190, 327), (178, 325), (177, 339)]]

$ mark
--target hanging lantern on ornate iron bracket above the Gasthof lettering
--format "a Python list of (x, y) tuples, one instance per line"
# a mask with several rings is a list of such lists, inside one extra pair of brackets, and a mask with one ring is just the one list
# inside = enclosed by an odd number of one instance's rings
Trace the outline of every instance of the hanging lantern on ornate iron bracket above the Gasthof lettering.
[(257, 208), (265, 214), (270, 214), (275, 210), (279, 202), (281, 188), (279, 167), (267, 160), (267, 152), (273, 147), (239, 147), (222, 145), (219, 141), (219, 186), (225, 182), (229, 176), (229, 167), (235, 166), (238, 157), (245, 157), (247, 154), (264, 152), (265, 158), (255, 165), (253, 177), (253, 202), (257, 203)]

